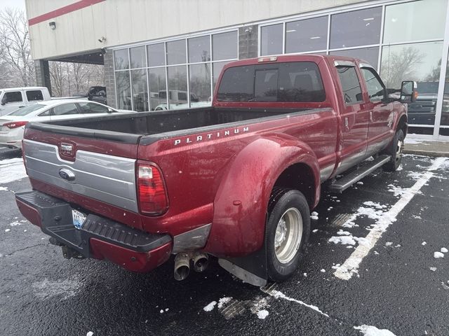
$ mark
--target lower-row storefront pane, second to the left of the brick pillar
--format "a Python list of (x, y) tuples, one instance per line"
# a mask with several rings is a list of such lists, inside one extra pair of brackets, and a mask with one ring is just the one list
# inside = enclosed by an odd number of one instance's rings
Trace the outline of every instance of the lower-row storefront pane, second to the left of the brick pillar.
[[(206, 105), (210, 96), (210, 63), (193, 64), (189, 69), (190, 104), (192, 107)], [(196, 104), (198, 102), (206, 104)]]

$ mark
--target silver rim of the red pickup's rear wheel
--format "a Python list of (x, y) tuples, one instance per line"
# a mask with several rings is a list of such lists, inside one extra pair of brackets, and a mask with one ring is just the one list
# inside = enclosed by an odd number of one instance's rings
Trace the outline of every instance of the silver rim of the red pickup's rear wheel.
[(301, 238), (302, 216), (298, 209), (290, 208), (283, 213), (276, 226), (274, 251), (279, 262), (286, 264), (295, 258)]

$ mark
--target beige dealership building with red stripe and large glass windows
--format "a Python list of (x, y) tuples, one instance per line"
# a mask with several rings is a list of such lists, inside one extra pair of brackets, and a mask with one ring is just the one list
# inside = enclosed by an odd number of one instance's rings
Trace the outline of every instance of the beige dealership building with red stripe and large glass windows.
[(210, 104), (227, 62), (357, 57), (389, 88), (416, 80), (411, 133), (449, 137), (448, 0), (26, 0), (37, 84), (48, 61), (105, 66), (107, 103), (153, 111)]

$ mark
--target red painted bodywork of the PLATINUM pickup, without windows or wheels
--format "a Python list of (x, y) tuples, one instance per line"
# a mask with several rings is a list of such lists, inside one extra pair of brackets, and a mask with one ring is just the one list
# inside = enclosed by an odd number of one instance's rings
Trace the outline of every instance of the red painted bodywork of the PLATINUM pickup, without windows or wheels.
[[(219, 85), (215, 88), (213, 106), (217, 109), (316, 109), (308, 114), (292, 112), (288, 116), (247, 120), (238, 126), (217, 125), (207, 132), (193, 128), (182, 136), (168, 135), (152, 144), (139, 145), (26, 130), (26, 139), (55, 146), (72, 141), (69, 143), (78, 150), (154, 162), (161, 169), (168, 195), (168, 211), (161, 216), (135, 214), (34, 179), (32, 186), (147, 232), (175, 236), (212, 223), (204, 251), (222, 257), (248, 255), (262, 246), (269, 196), (285, 169), (301, 163), (313, 172), (313, 208), (319, 202), (321, 183), (371, 152), (385, 148), (393, 139), (398, 120), (406, 113), (400, 103), (381, 106), (370, 102), (358, 69), (363, 102), (345, 106), (333, 65), (335, 59), (349, 60), (358, 66), (357, 60), (347, 57), (277, 57), (276, 62), (318, 64), (326, 90), (326, 99), (320, 103), (217, 102)], [(248, 64), (258, 64), (257, 59), (229, 63), (223, 71)], [(222, 74), (218, 83), (221, 78)], [(373, 120), (370, 111), (375, 112)], [(385, 118), (393, 118), (388, 129)], [(101, 257), (105, 247), (97, 247), (97, 251)]]

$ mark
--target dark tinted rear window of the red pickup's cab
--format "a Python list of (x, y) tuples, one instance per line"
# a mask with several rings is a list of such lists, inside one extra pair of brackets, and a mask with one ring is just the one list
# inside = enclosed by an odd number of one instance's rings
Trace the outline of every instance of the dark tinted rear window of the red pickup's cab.
[(223, 73), (218, 102), (324, 102), (326, 92), (314, 62), (235, 66)]

